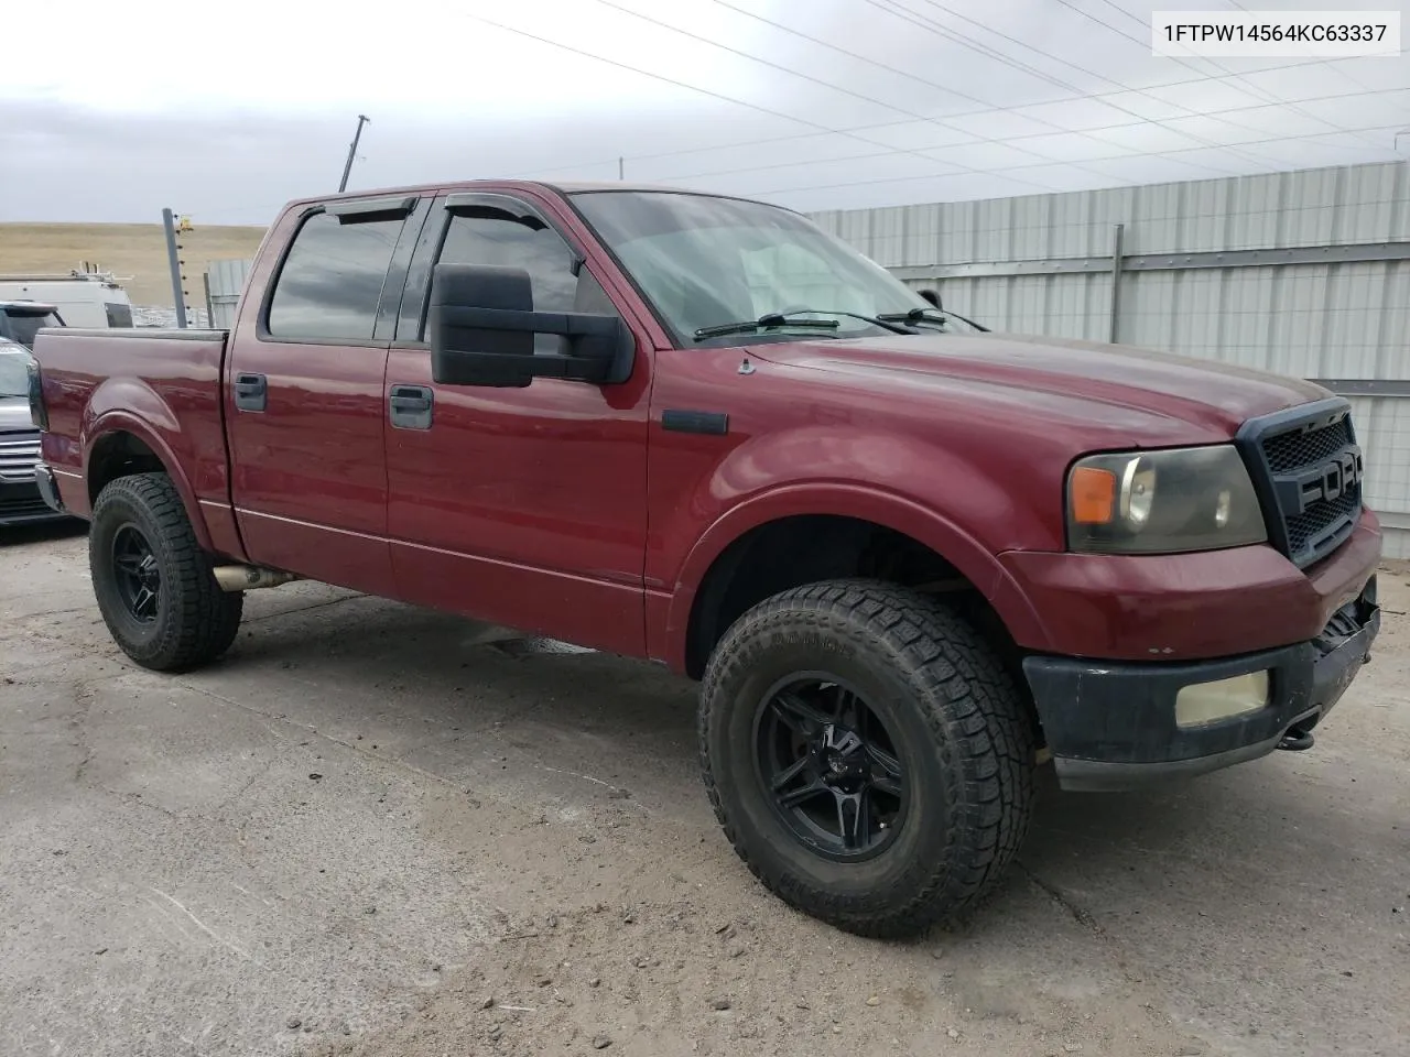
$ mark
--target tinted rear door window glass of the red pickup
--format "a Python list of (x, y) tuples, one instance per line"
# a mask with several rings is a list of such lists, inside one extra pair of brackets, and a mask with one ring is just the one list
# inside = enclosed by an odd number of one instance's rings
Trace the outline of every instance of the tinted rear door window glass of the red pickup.
[(316, 213), (293, 238), (269, 302), (276, 338), (369, 341), (402, 220)]

